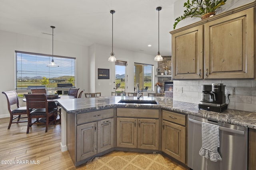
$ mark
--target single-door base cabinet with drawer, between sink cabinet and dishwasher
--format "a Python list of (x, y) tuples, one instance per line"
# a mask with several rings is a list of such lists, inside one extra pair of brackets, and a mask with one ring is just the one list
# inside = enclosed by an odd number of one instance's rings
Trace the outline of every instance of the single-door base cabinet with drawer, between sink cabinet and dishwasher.
[(162, 151), (186, 163), (186, 115), (162, 111)]

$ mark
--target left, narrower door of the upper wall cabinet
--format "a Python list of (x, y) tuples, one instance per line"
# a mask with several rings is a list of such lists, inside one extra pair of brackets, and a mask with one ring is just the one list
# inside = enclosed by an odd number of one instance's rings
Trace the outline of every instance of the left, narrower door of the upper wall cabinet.
[(203, 25), (172, 35), (172, 78), (202, 79)]

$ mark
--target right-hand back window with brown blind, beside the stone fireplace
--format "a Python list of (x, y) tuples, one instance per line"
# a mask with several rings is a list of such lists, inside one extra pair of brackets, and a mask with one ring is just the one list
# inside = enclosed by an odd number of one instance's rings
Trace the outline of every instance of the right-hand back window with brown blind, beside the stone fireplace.
[(136, 83), (142, 91), (153, 90), (153, 65), (134, 63), (134, 87)]

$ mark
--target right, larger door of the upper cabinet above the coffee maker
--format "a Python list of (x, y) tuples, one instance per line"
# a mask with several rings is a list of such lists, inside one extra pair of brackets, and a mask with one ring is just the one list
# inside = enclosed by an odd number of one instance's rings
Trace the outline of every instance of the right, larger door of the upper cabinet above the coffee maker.
[(204, 78), (254, 78), (254, 8), (205, 23)]

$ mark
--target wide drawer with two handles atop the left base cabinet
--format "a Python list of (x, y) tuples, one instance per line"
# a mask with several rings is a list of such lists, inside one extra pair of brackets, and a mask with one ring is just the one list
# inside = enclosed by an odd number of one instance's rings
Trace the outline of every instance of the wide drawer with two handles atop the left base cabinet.
[(90, 121), (98, 121), (100, 119), (106, 119), (114, 116), (114, 109), (106, 109), (99, 111), (92, 111), (88, 113), (77, 114), (77, 124), (86, 123)]

